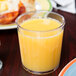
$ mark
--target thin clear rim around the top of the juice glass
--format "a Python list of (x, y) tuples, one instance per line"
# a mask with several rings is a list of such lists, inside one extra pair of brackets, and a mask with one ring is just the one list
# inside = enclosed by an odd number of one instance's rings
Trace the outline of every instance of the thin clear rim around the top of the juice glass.
[[(58, 15), (58, 16), (60, 16), (60, 17), (62, 18), (61, 25), (60, 25), (59, 27), (55, 28), (55, 29), (47, 30), (47, 31), (34, 31), (34, 30), (29, 30), (29, 29), (25, 29), (25, 28), (21, 27), (20, 24), (18, 24), (18, 20), (19, 20), (22, 16), (27, 15), (27, 14), (29, 14), (29, 13), (33, 13), (33, 12), (48, 12), (48, 14), (49, 14), (49, 13), (54, 13), (54, 14), (56, 14), (56, 15)], [(28, 20), (30, 20), (30, 19), (28, 19)], [(15, 23), (17, 24), (17, 28), (19, 27), (19, 28), (21, 28), (22, 30), (28, 31), (28, 32), (52, 32), (52, 31), (55, 31), (55, 30), (58, 30), (58, 29), (64, 27), (64, 25), (65, 25), (65, 19), (64, 19), (64, 17), (63, 17), (62, 15), (60, 15), (60, 14), (58, 14), (58, 13), (56, 13), (56, 12), (42, 11), (42, 10), (40, 10), (40, 11), (30, 11), (30, 12), (26, 12), (26, 13), (20, 15), (20, 16), (15, 20)]]

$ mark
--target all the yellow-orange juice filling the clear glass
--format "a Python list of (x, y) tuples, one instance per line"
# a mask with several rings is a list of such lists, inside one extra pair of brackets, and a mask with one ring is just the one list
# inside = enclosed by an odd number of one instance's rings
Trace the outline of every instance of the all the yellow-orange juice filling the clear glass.
[[(24, 67), (31, 71), (46, 72), (58, 67), (63, 30), (55, 19), (29, 19), (21, 24), (19, 43)], [(50, 31), (52, 30), (52, 31)]]

